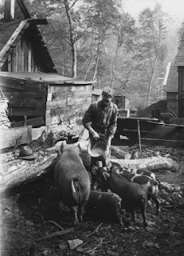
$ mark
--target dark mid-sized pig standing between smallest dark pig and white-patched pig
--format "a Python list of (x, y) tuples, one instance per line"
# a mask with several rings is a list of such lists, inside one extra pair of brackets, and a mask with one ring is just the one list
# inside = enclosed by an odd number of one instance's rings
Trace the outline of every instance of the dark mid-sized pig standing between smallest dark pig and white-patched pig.
[(131, 222), (135, 222), (135, 209), (139, 208), (143, 216), (143, 224), (147, 226), (147, 193), (143, 187), (137, 183), (128, 182), (119, 174), (109, 174), (107, 171), (100, 170), (101, 178), (109, 190), (118, 194), (122, 198), (122, 206), (131, 214)]

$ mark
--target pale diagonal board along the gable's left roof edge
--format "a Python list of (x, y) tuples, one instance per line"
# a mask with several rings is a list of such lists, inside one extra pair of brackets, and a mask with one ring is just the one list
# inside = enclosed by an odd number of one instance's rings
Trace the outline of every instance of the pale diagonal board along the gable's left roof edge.
[(14, 33), (10, 36), (8, 42), (6, 42), (6, 45), (2, 48), (2, 50), (0, 51), (0, 61), (2, 60), (2, 58), (4, 57), (4, 55), (6, 54), (7, 50), (10, 49), (10, 46), (13, 44), (13, 42), (15, 41), (15, 39), (18, 37), (18, 34), (21, 32), (21, 30), (23, 29), (23, 27), (25, 26), (25, 24), (27, 23), (28, 19), (23, 20), (22, 22), (20, 22), (20, 24), (18, 25), (18, 28), (14, 31)]

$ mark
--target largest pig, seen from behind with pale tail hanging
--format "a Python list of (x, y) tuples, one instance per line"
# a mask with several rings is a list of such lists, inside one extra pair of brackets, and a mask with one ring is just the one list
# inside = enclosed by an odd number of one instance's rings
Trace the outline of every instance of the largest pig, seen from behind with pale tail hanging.
[(60, 199), (74, 214), (74, 224), (79, 223), (78, 218), (82, 222), (84, 206), (90, 193), (90, 180), (77, 150), (65, 143), (61, 144), (61, 155), (57, 157), (54, 178)]

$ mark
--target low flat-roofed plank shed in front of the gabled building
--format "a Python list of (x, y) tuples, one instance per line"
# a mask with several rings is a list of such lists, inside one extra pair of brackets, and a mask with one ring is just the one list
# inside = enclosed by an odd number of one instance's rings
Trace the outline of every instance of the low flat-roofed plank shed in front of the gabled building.
[(16, 126), (76, 122), (92, 102), (91, 82), (59, 74), (1, 72), (0, 84)]

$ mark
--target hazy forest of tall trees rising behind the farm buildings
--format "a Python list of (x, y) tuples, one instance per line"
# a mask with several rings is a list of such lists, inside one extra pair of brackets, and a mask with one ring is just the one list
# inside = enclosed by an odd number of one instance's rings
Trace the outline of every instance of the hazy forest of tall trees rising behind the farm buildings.
[[(162, 6), (144, 9), (135, 20), (121, 0), (24, 2), (32, 18), (49, 22), (39, 29), (59, 74), (112, 86), (136, 108), (161, 99), (158, 78), (174, 62), (184, 32), (184, 22), (178, 27)], [(17, 3), (15, 18), (22, 18)]]

